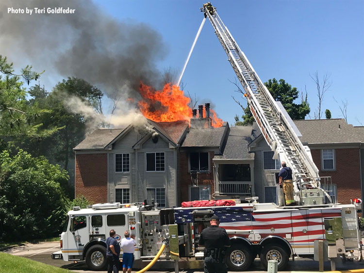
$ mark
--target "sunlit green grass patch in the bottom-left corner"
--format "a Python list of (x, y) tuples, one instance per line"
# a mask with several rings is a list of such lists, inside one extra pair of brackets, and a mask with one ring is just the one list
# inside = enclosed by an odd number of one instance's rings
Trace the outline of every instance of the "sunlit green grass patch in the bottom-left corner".
[(67, 269), (32, 261), (27, 258), (0, 253), (1, 273), (71, 273)]

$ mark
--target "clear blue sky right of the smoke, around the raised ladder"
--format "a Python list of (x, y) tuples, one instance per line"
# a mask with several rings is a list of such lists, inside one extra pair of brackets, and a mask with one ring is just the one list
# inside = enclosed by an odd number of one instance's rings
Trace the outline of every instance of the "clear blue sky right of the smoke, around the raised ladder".
[[(145, 22), (161, 33), (168, 47), (161, 71), (182, 70), (203, 15), (203, 1), (96, 1), (120, 20)], [(339, 105), (347, 100), (348, 123), (364, 125), (364, 1), (362, 0), (245, 0), (212, 1), (232, 36), (261, 80), (284, 79), (308, 92), (311, 116), (318, 105), (310, 74), (331, 75), (323, 101), (332, 118), (343, 117)], [(210, 100), (230, 124), (240, 107), (232, 100), (235, 74), (206, 21), (182, 81), (199, 103)], [(335, 102), (333, 97), (338, 101)], [(241, 100), (243, 101), (243, 99)], [(306, 119), (309, 117), (306, 117)], [(359, 121), (358, 121), (359, 120)]]

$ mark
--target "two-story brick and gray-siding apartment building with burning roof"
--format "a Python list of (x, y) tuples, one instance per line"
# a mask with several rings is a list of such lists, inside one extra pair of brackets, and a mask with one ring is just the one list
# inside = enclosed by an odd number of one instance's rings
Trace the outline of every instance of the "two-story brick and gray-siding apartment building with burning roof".
[[(340, 203), (361, 198), (364, 177), (364, 128), (344, 119), (294, 121), (301, 142), (311, 149), (327, 190)], [(161, 207), (182, 201), (256, 195), (275, 202), (273, 160), (256, 125), (213, 128), (209, 116), (185, 121), (148, 121), (134, 127), (95, 130), (75, 147), (75, 194), (94, 203), (149, 202)]]

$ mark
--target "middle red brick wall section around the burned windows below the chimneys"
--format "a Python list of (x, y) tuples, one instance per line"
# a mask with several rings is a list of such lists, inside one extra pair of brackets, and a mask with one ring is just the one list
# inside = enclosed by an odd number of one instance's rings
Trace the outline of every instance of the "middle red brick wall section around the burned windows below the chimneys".
[[(180, 150), (180, 180), (181, 187), (177, 190), (179, 200), (189, 201), (189, 186), (191, 183), (191, 174), (188, 172), (188, 151)], [(214, 169), (213, 169), (213, 158), (215, 152), (210, 152), (210, 173), (199, 174), (199, 186), (210, 185), (211, 193), (215, 193), (214, 187)], [(178, 206), (181, 204), (177, 204)]]

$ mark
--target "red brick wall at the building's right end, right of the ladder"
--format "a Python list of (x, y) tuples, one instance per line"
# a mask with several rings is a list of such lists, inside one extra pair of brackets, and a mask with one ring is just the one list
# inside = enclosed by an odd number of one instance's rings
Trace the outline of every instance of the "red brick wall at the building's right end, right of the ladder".
[(339, 203), (349, 204), (350, 199), (362, 198), (359, 149), (335, 149), (335, 171), (321, 170), (321, 150), (311, 150), (311, 154), (320, 177), (331, 177), (332, 184), (337, 185)]

